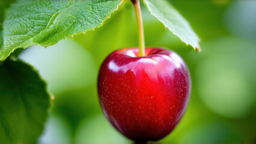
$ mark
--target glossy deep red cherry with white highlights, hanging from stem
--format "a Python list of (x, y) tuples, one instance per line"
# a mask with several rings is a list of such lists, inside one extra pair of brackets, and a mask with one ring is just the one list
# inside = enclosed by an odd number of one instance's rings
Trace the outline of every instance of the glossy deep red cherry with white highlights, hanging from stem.
[(100, 67), (98, 93), (106, 118), (135, 142), (162, 139), (183, 116), (190, 74), (177, 53), (162, 48), (120, 49)]

